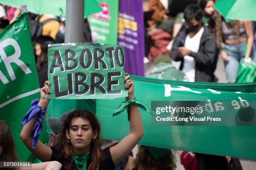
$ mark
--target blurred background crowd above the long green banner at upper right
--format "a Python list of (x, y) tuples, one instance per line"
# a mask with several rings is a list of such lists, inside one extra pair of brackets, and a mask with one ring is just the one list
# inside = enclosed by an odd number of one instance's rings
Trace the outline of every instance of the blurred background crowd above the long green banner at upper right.
[[(255, 22), (225, 19), (213, 7), (216, 1), (149, 0), (154, 13), (145, 33), (148, 59), (168, 54), (172, 61), (180, 61), (179, 70), (189, 82), (217, 82), (214, 71), (220, 56), (227, 82), (236, 82), (240, 60), (256, 62)], [(178, 7), (176, 13), (170, 13), (172, 6)]]

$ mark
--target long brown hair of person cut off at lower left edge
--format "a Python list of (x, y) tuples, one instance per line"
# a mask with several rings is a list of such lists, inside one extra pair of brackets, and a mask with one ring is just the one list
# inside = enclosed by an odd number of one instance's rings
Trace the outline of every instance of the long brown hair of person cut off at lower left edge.
[[(5, 121), (0, 120), (0, 146), (3, 148), (0, 161), (18, 161), (16, 156), (13, 135)], [(16, 170), (17, 168), (2, 168), (3, 170)], [(1, 169), (1, 170), (2, 170)]]

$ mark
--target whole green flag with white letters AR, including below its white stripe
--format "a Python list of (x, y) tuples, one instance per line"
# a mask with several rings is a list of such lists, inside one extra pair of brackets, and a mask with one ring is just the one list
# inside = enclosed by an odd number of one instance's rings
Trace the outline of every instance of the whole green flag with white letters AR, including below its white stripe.
[[(0, 120), (7, 122), (21, 160), (33, 158), (20, 140), (20, 122), (39, 91), (28, 14), (22, 13), (0, 33)], [(46, 140), (47, 134), (40, 139)]]

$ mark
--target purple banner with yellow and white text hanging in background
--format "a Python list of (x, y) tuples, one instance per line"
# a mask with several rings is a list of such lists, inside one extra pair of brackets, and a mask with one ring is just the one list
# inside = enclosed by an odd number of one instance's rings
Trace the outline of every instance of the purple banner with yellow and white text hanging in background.
[(144, 20), (142, 1), (120, 0), (118, 14), (118, 45), (125, 49), (125, 71), (144, 76)]

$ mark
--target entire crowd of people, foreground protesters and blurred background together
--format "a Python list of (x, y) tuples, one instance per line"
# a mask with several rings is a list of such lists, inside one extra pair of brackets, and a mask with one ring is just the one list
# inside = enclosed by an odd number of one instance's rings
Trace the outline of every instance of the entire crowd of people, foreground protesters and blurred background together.
[[(213, 5), (216, 0), (191, 0), (180, 11), (172, 13), (174, 0), (149, 0), (151, 18), (145, 23), (145, 54), (154, 60), (150, 77), (189, 82), (217, 82), (214, 75), (219, 56), (223, 59), (228, 82), (235, 82), (239, 62), (256, 62), (252, 21), (227, 20)], [(0, 32), (20, 15), (20, 9), (0, 5)], [(130, 133), (120, 142), (102, 149), (100, 123), (89, 111), (71, 110), (60, 119), (47, 118), (53, 131), (47, 145), (33, 139), (33, 128), (40, 114), (45, 114), (51, 83), (47, 76), (48, 44), (64, 42), (65, 18), (30, 13), (31, 39), (35, 54), (41, 99), (36, 116), (24, 124), (20, 138), (43, 163), (33, 164), (36, 170), (175, 170), (176, 153), (186, 170), (241, 170), (238, 159), (189, 153), (141, 145), (135, 159), (131, 150), (143, 136), (138, 107), (129, 106)], [(35, 27), (36, 25), (36, 27)], [(39, 26), (38, 26), (39, 25)], [(41, 32), (38, 32), (41, 27)], [(156, 35), (162, 39), (156, 39)], [(91, 42), (90, 26), (84, 20), (84, 40)], [(172, 61), (181, 61), (179, 70)], [(134, 99), (134, 83), (125, 77), (126, 100)], [(0, 121), (0, 161), (17, 161), (15, 145), (7, 124)], [(15, 169), (15, 168), (13, 168)], [(21, 168), (23, 169), (23, 168)], [(24, 168), (25, 170), (26, 168)]]

